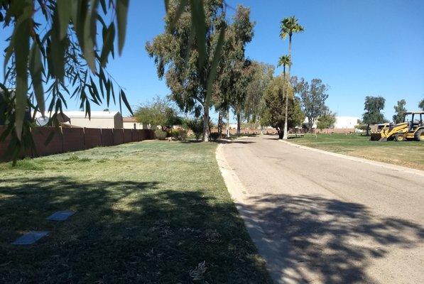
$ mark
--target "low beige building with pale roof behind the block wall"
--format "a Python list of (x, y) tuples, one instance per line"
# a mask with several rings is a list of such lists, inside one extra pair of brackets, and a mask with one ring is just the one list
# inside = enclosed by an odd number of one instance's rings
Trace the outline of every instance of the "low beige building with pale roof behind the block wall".
[(91, 111), (91, 117), (85, 111), (63, 111), (72, 126), (93, 129), (123, 129), (124, 123), (119, 111)]

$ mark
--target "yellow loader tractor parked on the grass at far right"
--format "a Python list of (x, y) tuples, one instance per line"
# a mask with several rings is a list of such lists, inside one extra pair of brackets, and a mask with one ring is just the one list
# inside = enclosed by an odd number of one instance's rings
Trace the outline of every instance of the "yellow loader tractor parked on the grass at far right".
[(400, 124), (384, 126), (379, 133), (379, 141), (424, 141), (424, 111), (408, 111)]

